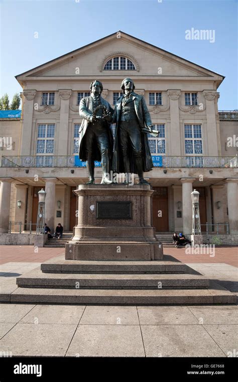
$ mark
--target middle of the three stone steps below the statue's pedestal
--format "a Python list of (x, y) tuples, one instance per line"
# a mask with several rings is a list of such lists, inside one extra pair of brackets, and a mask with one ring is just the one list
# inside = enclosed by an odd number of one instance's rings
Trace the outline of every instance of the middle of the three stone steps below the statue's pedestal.
[(17, 277), (18, 287), (164, 289), (208, 288), (209, 279), (194, 274), (73, 274), (43, 273), (36, 268)]

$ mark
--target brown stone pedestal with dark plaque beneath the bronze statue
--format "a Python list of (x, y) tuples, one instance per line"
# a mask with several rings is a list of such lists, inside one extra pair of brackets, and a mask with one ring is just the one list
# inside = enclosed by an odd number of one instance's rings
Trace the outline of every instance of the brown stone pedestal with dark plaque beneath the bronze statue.
[[(163, 247), (152, 226), (150, 185), (84, 184), (78, 197), (78, 223), (66, 244), (70, 260), (156, 260)], [(108, 205), (105, 202), (112, 202)]]

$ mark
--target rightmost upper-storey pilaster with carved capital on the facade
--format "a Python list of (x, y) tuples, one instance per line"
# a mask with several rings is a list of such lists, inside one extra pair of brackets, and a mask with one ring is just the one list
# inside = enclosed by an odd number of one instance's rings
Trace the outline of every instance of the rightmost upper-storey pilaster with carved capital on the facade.
[(216, 131), (215, 112), (215, 102), (217, 102), (218, 93), (216, 92), (216, 90), (203, 90), (203, 95), (206, 100), (208, 155), (218, 156), (218, 139)]

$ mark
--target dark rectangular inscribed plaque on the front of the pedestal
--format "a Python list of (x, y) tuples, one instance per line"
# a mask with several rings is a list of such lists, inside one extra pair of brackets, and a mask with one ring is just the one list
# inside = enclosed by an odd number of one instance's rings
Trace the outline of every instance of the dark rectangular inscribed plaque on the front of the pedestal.
[(97, 202), (97, 219), (132, 219), (132, 202)]

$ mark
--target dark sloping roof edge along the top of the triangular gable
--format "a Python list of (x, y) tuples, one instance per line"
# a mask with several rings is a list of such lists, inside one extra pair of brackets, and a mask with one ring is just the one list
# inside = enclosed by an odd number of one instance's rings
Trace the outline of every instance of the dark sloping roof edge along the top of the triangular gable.
[(151, 43), (149, 43), (149, 42), (147, 42), (147, 41), (144, 41), (144, 40), (141, 40), (141, 39), (139, 39), (139, 38), (137, 38), (137, 37), (134, 37), (134, 36), (132, 36), (132, 35), (129, 35), (128, 33), (123, 32), (123, 31), (116, 31), (116, 32), (114, 32), (114, 33), (111, 33), (111, 34), (108, 35), (108, 36), (102, 37), (102, 38), (99, 39), (99, 40), (90, 42), (90, 43), (87, 44), (87, 45), (84, 45), (84, 46), (82, 46), (82, 47), (80, 47), (80, 48), (74, 49), (74, 50), (72, 50), (71, 52), (65, 53), (65, 54), (63, 54), (62, 56), (59, 56), (59, 57), (54, 58), (53, 60), (47, 61), (47, 62), (45, 62), (44, 64), (38, 65), (38, 66), (36, 66), (35, 68), (32, 68), (32, 69), (30, 69), (30, 70), (27, 70), (27, 71), (25, 71), (25, 72), (23, 72), (23, 73), (21, 73), (21, 74), (17, 74), (17, 75), (15, 75), (15, 78), (17, 79), (17, 77), (19, 77), (20, 75), (23, 75), (23, 74), (25, 74), (25, 73), (28, 73), (29, 71), (32, 71), (32, 70), (37, 69), (37, 68), (40, 68), (40, 67), (43, 66), (43, 65), (46, 65), (46, 64), (49, 64), (50, 62), (53, 62), (53, 61), (55, 61), (55, 60), (58, 60), (59, 58), (65, 57), (65, 56), (67, 56), (67, 55), (69, 55), (69, 54), (72, 54), (72, 53), (74, 53), (74, 52), (76, 52), (76, 51), (79, 51), (79, 50), (81, 50), (81, 49), (83, 49), (83, 48), (86, 48), (87, 46), (90, 46), (90, 45), (95, 44), (95, 43), (97, 43), (97, 42), (99, 42), (99, 41), (102, 41), (102, 40), (104, 40), (104, 39), (106, 39), (106, 38), (108, 38), (108, 37), (111, 37), (111, 36), (117, 34), (118, 32), (124, 33), (125, 35), (127, 35), (127, 36), (129, 36), (129, 37), (132, 37), (132, 38), (135, 39), (135, 40), (138, 40), (138, 41), (140, 41), (140, 42), (143, 42), (143, 43), (145, 43), (145, 44), (148, 44), (148, 45), (150, 45), (150, 46), (153, 46), (153, 48), (160, 49), (160, 50), (162, 50), (163, 52), (169, 53), (169, 54), (171, 54), (171, 55), (173, 55), (173, 56), (175, 56), (175, 57), (180, 58), (181, 60), (184, 60), (184, 61), (189, 62), (190, 64), (196, 65), (196, 66), (198, 66), (198, 67), (200, 67), (200, 68), (202, 68), (202, 69), (205, 69), (205, 70), (210, 71), (211, 73), (217, 74), (217, 75), (221, 76), (223, 79), (225, 78), (225, 76), (223, 76), (222, 74), (216, 73), (216, 72), (214, 72), (213, 70), (210, 70), (210, 69), (205, 68), (204, 66), (195, 64), (194, 62), (189, 61), (189, 60), (187, 60), (186, 58), (180, 57), (180, 56), (178, 56), (177, 54), (174, 54), (174, 53), (169, 52), (168, 50), (159, 48), (159, 47), (156, 46), (156, 45), (153, 45), (153, 44), (151, 44)]

